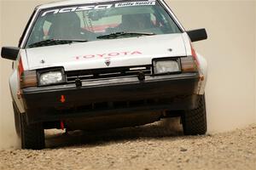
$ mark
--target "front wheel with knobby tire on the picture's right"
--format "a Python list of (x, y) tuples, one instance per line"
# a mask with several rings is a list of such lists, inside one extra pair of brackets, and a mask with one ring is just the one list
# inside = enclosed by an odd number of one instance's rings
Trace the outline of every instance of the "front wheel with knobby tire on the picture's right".
[(183, 133), (197, 135), (207, 133), (207, 110), (205, 95), (198, 95), (197, 108), (184, 111), (182, 116)]

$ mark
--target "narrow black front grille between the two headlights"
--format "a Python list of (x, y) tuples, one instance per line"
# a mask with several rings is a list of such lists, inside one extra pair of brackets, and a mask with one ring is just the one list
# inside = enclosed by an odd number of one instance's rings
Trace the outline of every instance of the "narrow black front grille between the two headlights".
[(106, 69), (92, 69), (81, 71), (67, 71), (67, 82), (75, 82), (79, 77), (81, 81), (108, 79), (114, 77), (131, 77), (137, 76), (139, 72), (145, 75), (151, 75), (151, 65), (139, 65), (130, 67), (114, 67)]

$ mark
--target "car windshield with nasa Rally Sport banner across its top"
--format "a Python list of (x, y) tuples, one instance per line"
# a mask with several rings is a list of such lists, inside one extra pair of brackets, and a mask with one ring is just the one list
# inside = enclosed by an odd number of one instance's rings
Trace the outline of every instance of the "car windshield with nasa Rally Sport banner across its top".
[(114, 38), (181, 31), (160, 3), (154, 0), (90, 3), (40, 11), (26, 42), (26, 48), (33, 47), (37, 42), (49, 42), (47, 40), (102, 40), (117, 32), (130, 34), (116, 34), (121, 36)]

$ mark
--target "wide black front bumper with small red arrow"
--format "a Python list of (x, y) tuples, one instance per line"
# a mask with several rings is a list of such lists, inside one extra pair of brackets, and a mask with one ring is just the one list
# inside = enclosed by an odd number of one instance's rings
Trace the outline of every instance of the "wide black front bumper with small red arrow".
[(197, 106), (198, 73), (94, 80), (25, 88), (27, 121), (51, 122), (72, 117), (110, 116), (134, 111), (189, 110)]

